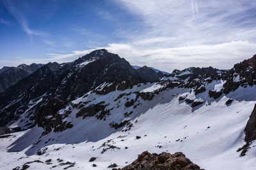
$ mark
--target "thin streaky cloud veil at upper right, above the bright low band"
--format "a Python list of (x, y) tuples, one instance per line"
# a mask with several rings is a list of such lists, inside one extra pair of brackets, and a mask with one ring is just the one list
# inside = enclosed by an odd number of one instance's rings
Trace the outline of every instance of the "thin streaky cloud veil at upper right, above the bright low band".
[[(116, 1), (147, 24), (137, 39), (157, 36), (175, 38), (172, 46), (223, 43), (256, 39), (256, 1)], [(147, 4), (147, 5), (145, 5)], [(140, 25), (139, 25), (140, 27)], [(237, 34), (238, 33), (238, 34)]]

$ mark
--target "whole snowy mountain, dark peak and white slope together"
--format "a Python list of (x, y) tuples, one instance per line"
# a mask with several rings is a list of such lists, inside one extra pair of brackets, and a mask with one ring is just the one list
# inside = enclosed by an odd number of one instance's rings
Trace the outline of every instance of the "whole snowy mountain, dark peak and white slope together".
[(0, 136), (1, 167), (122, 168), (148, 151), (254, 169), (255, 71), (256, 55), (163, 77), (106, 50), (49, 63), (1, 94), (1, 125), (26, 129)]

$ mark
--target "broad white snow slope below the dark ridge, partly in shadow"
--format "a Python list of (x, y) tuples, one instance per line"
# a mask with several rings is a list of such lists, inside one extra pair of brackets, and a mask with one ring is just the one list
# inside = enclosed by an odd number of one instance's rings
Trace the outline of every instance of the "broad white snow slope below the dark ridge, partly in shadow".
[[(50, 132), (40, 138), (44, 130), (33, 127), (8, 138), (0, 138), (0, 167), (13, 169), (29, 161), (40, 160), (42, 163), (28, 164), (29, 169), (63, 169), (69, 166), (61, 166), (57, 160), (63, 159), (63, 162), (76, 162), (68, 169), (109, 169), (109, 164), (113, 163), (124, 167), (147, 150), (152, 153), (183, 152), (207, 170), (256, 169), (253, 164), (256, 161), (255, 148), (252, 147), (244, 157), (239, 157), (240, 153), (236, 152), (245, 144), (243, 130), (255, 104), (256, 96), (252, 93), (256, 87), (239, 87), (216, 100), (209, 98), (208, 91), (220, 90), (222, 84), (222, 81), (212, 81), (205, 86), (205, 92), (197, 95), (191, 89), (177, 87), (162, 91), (164, 85), (161, 83), (140, 83), (132, 89), (115, 90), (105, 95), (88, 92), (65, 108), (71, 110), (65, 118), (74, 125), (71, 129)], [(99, 88), (105, 85), (108, 83)], [(154, 97), (151, 100), (138, 97), (136, 101), (136, 92), (154, 93)], [(125, 95), (120, 97), (121, 94)], [(191, 108), (186, 101), (179, 101), (180, 96), (204, 103)], [(125, 106), (132, 99), (134, 104)], [(225, 102), (228, 99), (234, 101), (227, 106)], [(86, 107), (100, 102), (107, 105), (105, 110), (110, 110), (110, 114), (104, 117), (106, 120), (76, 117), (79, 108), (74, 107), (75, 104), (82, 103)], [(65, 110), (58, 114), (65, 113)], [(118, 129), (109, 125), (124, 120), (131, 122), (130, 130), (128, 124)], [(141, 138), (136, 139), (136, 136)], [(47, 150), (43, 155), (36, 155), (39, 149), (44, 148)], [(91, 157), (97, 159), (89, 162)], [(45, 162), (49, 159), (52, 164)], [(92, 164), (97, 167), (92, 167)]]

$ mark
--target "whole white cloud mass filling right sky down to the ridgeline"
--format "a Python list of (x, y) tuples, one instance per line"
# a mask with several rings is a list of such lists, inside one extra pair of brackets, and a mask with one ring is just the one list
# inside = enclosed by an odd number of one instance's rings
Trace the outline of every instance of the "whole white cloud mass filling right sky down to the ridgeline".
[[(115, 36), (122, 36), (122, 42), (102, 45), (99, 43), (101, 35), (97, 32), (83, 27), (72, 29), (97, 39), (95, 44), (99, 48), (118, 53), (131, 64), (164, 71), (191, 66), (228, 69), (256, 53), (254, 0), (114, 1), (135, 18), (127, 21), (134, 23), (120, 24), (113, 32)], [(98, 15), (109, 18), (106, 13)], [(111, 36), (106, 35), (106, 38), (111, 39)], [(98, 48), (92, 50), (95, 49)], [(92, 50), (47, 53), (48, 58), (39, 61), (68, 62)]]

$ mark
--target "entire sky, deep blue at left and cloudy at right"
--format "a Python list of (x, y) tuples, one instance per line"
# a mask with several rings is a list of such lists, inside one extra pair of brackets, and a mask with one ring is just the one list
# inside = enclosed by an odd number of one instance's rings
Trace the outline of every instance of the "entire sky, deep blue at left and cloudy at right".
[(256, 53), (255, 0), (0, 0), (0, 68), (106, 48), (163, 71), (231, 68)]

